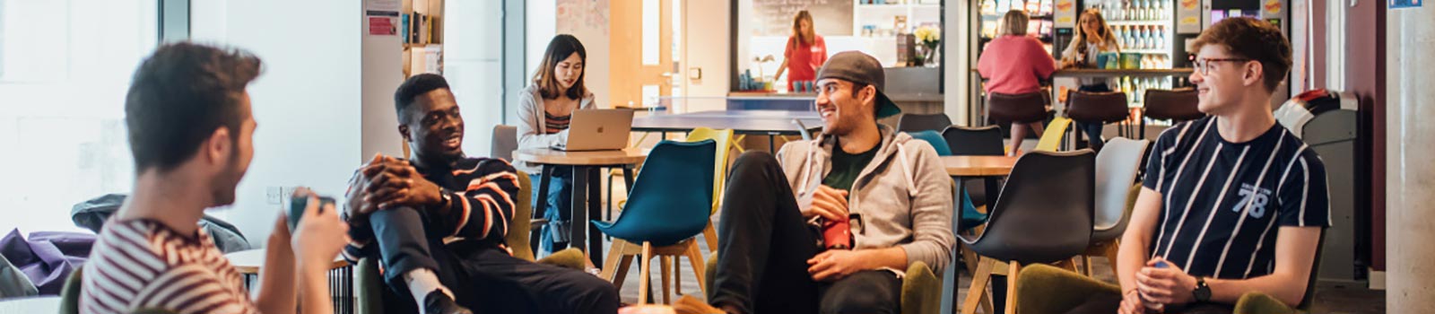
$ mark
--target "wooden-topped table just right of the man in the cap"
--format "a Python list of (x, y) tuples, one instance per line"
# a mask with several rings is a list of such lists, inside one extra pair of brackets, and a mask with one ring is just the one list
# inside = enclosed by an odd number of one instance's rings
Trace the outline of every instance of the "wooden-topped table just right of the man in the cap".
[[(954, 206), (954, 208), (959, 208), (959, 209), (954, 209), (954, 212), (951, 215), (951, 234), (953, 235), (956, 235), (957, 231), (961, 229), (961, 224), (960, 224), (961, 222), (961, 215), (960, 215), (961, 214), (961, 209), (960, 209), (961, 205), (960, 204), (963, 204), (963, 201), (967, 196), (967, 194), (963, 192), (963, 191), (966, 191), (966, 182), (964, 182), (964, 179), (967, 179), (967, 178), (1006, 176), (1006, 175), (1012, 173), (1012, 166), (1016, 165), (1016, 159), (1017, 159), (1016, 156), (941, 156), (941, 163), (943, 163), (943, 166), (947, 168), (947, 175), (950, 175), (951, 179), (956, 181), (956, 184), (957, 184), (957, 188), (956, 188), (956, 194), (957, 195), (954, 198), (954, 201), (956, 201), (954, 204), (959, 204), (959, 205)], [(987, 195), (993, 195), (994, 192), (996, 191), (987, 191)], [(989, 196), (989, 199), (990, 199), (990, 196)], [(987, 202), (987, 206), (990, 206), (990, 205), (992, 205), (992, 202)], [(956, 280), (957, 278), (956, 270), (959, 267), (957, 265), (957, 257), (956, 257), (956, 254), (957, 254), (959, 249), (956, 247), (960, 244), (960, 239), (957, 239), (957, 241), (959, 242), (953, 245), (953, 249), (951, 249), (953, 254), (950, 257), (950, 262), (947, 262), (946, 270), (943, 270), (943, 278), (944, 280), (941, 281), (941, 291), (943, 291), (943, 295), (951, 295), (951, 297), (941, 298), (941, 308), (943, 308), (941, 313), (954, 313), (954, 310), (957, 308), (956, 304), (954, 304), (954, 301), (960, 300), (959, 298), (960, 295), (957, 295), (957, 280)], [(974, 260), (974, 257), (976, 255), (966, 257), (969, 260), (969, 264), (971, 264), (970, 261)]]

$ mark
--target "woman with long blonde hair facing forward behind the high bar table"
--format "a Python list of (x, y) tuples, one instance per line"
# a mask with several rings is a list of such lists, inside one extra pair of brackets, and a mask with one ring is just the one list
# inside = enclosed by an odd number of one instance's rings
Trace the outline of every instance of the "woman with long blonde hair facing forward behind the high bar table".
[[(1076, 30), (1076, 37), (1062, 52), (1062, 69), (1101, 67), (1101, 65), (1096, 65), (1098, 54), (1121, 53), (1121, 43), (1111, 34), (1111, 26), (1106, 26), (1106, 19), (1101, 17), (1101, 10), (1086, 9), (1081, 13), (1076, 24), (1081, 26)], [(1081, 92), (1112, 92), (1111, 79), (1106, 77), (1082, 77), (1079, 82), (1081, 87), (1078, 90)], [(1101, 125), (1076, 123), (1076, 126), (1086, 132), (1086, 141), (1091, 142), (1093, 149), (1101, 149), (1101, 145), (1105, 143), (1101, 141)]]

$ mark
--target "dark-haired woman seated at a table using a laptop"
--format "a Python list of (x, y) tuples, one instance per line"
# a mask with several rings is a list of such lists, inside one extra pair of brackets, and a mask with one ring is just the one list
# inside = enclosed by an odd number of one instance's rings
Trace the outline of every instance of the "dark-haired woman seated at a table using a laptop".
[[(568, 142), (568, 122), (573, 112), (578, 109), (593, 109), (593, 92), (583, 86), (583, 66), (587, 63), (588, 52), (573, 34), (558, 34), (548, 42), (542, 63), (532, 85), (519, 93), (518, 106), (518, 149), (551, 148)], [(542, 168), (528, 162), (515, 162), (514, 168), (528, 172), (537, 185)], [(568, 242), (568, 224), (571, 215), (573, 169), (558, 166), (550, 181), (548, 199), (538, 199), (538, 189), (534, 189), (534, 206), (537, 202), (547, 202), (544, 218), (548, 224), (542, 227), (540, 251), (551, 254)], [(557, 245), (555, 245), (557, 244)]]

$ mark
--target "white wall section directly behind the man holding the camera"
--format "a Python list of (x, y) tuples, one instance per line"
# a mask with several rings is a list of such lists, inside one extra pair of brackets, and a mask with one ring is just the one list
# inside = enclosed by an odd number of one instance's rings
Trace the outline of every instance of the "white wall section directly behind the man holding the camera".
[(195, 0), (198, 42), (243, 47), (264, 60), (250, 85), (254, 162), (224, 212), (253, 244), (264, 244), (278, 205), (271, 186), (311, 186), (342, 196), (360, 163), (362, 1)]

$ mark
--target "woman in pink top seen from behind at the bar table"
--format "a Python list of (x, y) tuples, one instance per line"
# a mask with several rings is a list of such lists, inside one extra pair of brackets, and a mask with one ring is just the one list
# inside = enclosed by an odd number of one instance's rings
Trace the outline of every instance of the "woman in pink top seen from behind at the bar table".
[[(1042, 92), (1042, 80), (1056, 72), (1056, 60), (1042, 47), (1042, 42), (1026, 36), (1029, 17), (1022, 10), (1007, 11), (1002, 16), (997, 37), (987, 43), (982, 59), (977, 60), (977, 72), (987, 79), (987, 95), (1022, 95)], [(1045, 105), (1043, 109), (1045, 112)], [(1016, 155), (1026, 138), (1026, 128), (1042, 133), (1042, 120), (1013, 120), (1012, 149), (1009, 155)], [(1025, 126), (1025, 128), (1023, 128)]]

